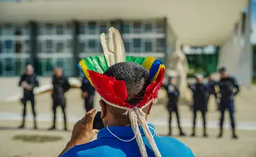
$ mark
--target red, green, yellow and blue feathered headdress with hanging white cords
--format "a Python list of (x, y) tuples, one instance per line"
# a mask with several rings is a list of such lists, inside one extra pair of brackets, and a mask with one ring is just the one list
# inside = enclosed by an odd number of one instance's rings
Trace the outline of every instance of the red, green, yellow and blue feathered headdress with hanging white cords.
[[(152, 101), (158, 96), (158, 90), (163, 82), (165, 66), (157, 58), (126, 56), (121, 35), (117, 29), (114, 29), (114, 27), (109, 29), (108, 39), (106, 39), (104, 33), (100, 35), (100, 43), (102, 44), (104, 55), (84, 58), (79, 61), (77, 67), (79, 67), (87, 79), (89, 79), (91, 84), (95, 87), (96, 92), (98, 92), (105, 103), (119, 109), (124, 109), (126, 110), (125, 114), (129, 114), (131, 126), (135, 132), (142, 156), (147, 156), (147, 154), (139, 132), (139, 125), (142, 126), (155, 155), (161, 156), (156, 147), (156, 143), (154, 143), (148, 125), (146, 124), (145, 114), (143, 113), (142, 108), (152, 105)], [(151, 84), (148, 85), (144, 92), (144, 96), (137, 105), (130, 105), (126, 102), (128, 95), (123, 80), (116, 80), (114, 77), (103, 75), (108, 67), (123, 61), (138, 63), (150, 72)], [(148, 113), (150, 112), (150, 109), (148, 110)]]

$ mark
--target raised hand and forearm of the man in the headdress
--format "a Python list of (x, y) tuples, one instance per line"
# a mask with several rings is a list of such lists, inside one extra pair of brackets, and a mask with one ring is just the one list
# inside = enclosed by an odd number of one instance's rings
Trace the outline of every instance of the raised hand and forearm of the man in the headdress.
[(68, 142), (66, 148), (62, 150), (59, 156), (62, 156), (64, 152), (75, 145), (89, 143), (93, 139), (95, 134), (98, 133), (98, 130), (93, 130), (93, 120), (95, 119), (97, 112), (98, 111), (96, 109), (91, 109), (74, 125), (70, 142)]

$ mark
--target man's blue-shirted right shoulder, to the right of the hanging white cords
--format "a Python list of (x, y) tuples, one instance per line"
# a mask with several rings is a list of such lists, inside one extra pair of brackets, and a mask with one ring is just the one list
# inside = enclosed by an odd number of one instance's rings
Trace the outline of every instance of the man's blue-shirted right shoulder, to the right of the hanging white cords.
[[(156, 137), (156, 145), (162, 156), (187, 156), (192, 157), (194, 154), (184, 143), (173, 137)], [(169, 150), (172, 150), (171, 152)]]

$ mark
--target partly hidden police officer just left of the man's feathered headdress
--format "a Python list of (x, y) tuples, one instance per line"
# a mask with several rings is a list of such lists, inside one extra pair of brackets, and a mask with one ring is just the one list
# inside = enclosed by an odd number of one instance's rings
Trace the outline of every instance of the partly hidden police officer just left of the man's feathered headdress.
[(87, 77), (83, 77), (81, 90), (82, 96), (85, 99), (85, 111), (88, 112), (91, 109), (93, 109), (93, 101), (95, 99), (95, 88), (93, 88)]

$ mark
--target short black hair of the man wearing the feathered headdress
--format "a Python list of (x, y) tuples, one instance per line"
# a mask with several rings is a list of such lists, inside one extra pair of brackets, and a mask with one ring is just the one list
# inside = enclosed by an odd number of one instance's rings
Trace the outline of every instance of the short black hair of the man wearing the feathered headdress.
[(127, 88), (127, 102), (136, 105), (144, 96), (144, 90), (150, 84), (149, 71), (137, 63), (120, 62), (109, 67), (104, 75), (124, 80)]

